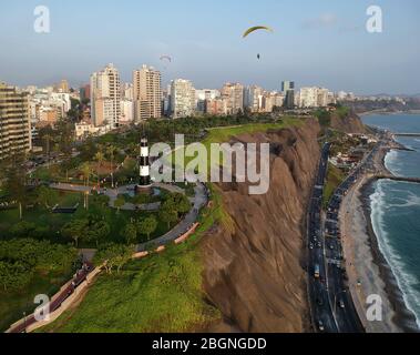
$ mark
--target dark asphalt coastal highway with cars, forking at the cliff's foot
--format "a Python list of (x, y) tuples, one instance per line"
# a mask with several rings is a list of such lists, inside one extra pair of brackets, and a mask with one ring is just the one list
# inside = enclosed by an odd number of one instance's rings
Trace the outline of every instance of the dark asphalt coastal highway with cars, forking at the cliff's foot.
[(342, 195), (355, 183), (361, 166), (370, 162), (370, 153), (357, 170), (339, 186), (331, 199), (328, 212), (322, 211), (322, 195), (328, 172), (331, 144), (325, 143), (318, 174), (308, 210), (308, 293), (313, 323), (320, 333), (363, 333), (342, 263), (342, 247), (338, 227), (338, 209)]

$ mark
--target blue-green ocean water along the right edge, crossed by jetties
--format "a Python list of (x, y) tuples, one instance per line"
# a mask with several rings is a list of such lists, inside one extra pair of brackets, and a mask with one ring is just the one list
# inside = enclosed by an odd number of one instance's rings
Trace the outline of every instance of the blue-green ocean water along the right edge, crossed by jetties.
[[(419, 114), (376, 114), (362, 120), (395, 133), (420, 133)], [(391, 151), (386, 158), (388, 170), (399, 176), (420, 178), (420, 136), (397, 140), (414, 152)], [(420, 184), (378, 181), (370, 203), (379, 248), (420, 328)]]

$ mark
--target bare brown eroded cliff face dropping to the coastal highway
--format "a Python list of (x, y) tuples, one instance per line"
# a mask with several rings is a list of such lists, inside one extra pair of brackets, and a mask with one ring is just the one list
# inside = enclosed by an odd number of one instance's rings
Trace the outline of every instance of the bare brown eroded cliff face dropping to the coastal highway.
[[(204, 287), (242, 332), (304, 332), (307, 325), (305, 219), (320, 149), (319, 125), (242, 135), (270, 143), (270, 189), (221, 184), (233, 227), (218, 226), (203, 243)], [(228, 231), (231, 230), (231, 231)]]

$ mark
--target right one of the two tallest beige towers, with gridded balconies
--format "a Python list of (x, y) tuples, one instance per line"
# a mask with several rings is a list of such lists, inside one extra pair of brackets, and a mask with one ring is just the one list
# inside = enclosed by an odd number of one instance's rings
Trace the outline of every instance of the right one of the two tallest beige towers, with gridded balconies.
[(143, 65), (133, 72), (135, 120), (162, 116), (162, 75), (152, 67)]

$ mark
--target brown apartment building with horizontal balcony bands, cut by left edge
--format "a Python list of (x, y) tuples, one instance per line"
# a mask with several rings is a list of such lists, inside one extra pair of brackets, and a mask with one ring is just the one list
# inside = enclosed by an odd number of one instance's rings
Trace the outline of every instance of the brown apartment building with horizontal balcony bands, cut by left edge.
[(0, 82), (0, 160), (31, 150), (29, 100)]

